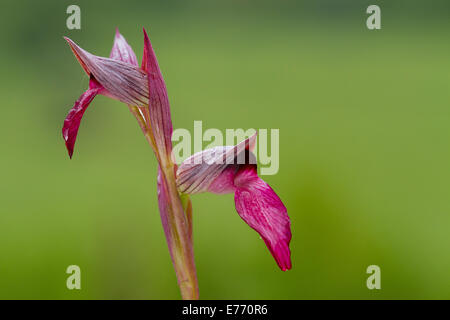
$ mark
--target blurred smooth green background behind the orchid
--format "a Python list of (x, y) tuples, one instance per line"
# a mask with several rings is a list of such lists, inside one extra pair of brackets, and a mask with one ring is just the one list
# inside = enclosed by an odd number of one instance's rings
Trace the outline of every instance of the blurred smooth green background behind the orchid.
[[(81, 30), (66, 8), (81, 7)], [(382, 29), (365, 10), (378, 4)], [(292, 220), (281, 272), (233, 195), (196, 195), (203, 299), (450, 298), (448, 1), (11, 1), (0, 16), (0, 298), (178, 299), (135, 119), (97, 97), (73, 160), (63, 120), (107, 56), (149, 31), (176, 128), (280, 129), (265, 176)], [(69, 291), (68, 265), (82, 289)], [(366, 287), (381, 267), (381, 290)]]

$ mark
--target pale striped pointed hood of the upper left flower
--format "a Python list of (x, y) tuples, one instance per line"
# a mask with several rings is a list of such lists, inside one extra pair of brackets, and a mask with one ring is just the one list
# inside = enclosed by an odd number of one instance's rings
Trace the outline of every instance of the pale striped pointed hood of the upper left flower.
[(148, 104), (147, 75), (141, 69), (119, 60), (95, 56), (69, 38), (65, 39), (84, 71), (106, 89), (103, 95), (128, 105)]

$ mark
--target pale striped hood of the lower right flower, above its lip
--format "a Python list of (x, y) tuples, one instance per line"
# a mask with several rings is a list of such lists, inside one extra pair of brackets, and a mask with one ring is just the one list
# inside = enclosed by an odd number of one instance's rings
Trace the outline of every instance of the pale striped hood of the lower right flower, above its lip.
[[(190, 156), (178, 167), (178, 189), (188, 194), (205, 191), (232, 192), (232, 185), (224, 183), (228, 178), (231, 179), (239, 164), (256, 163), (251, 153), (255, 141), (256, 133), (234, 147), (215, 147)], [(243, 161), (240, 161), (241, 159)], [(226, 173), (222, 176), (224, 172)], [(230, 179), (228, 180), (231, 181)]]

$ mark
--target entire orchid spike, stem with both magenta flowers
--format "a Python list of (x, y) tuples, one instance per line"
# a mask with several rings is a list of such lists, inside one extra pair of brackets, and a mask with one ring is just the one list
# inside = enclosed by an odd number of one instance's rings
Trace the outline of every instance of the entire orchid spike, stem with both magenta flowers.
[[(172, 263), (183, 299), (198, 299), (192, 244), (192, 203), (189, 194), (209, 191), (235, 193), (239, 215), (263, 238), (282, 270), (291, 268), (290, 221), (275, 192), (256, 173), (256, 164), (230, 164), (236, 157), (254, 157), (255, 136), (234, 147), (205, 150), (193, 158), (226, 159), (225, 164), (184, 161), (172, 157), (172, 120), (166, 85), (144, 29), (141, 67), (132, 48), (116, 31), (109, 58), (93, 55), (65, 38), (83, 70), (89, 87), (67, 115), (62, 133), (72, 158), (81, 119), (96, 95), (125, 103), (134, 115), (158, 161), (158, 206)], [(217, 152), (216, 152), (217, 151)], [(220, 152), (219, 152), (220, 151)], [(219, 155), (220, 153), (220, 155)]]

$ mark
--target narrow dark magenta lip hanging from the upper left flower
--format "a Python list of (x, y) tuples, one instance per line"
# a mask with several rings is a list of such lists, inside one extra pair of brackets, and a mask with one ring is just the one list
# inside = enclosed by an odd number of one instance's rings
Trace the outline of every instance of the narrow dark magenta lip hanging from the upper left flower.
[(75, 105), (70, 109), (69, 114), (64, 120), (62, 129), (63, 138), (66, 141), (66, 148), (69, 152), (69, 157), (72, 158), (75, 140), (77, 139), (78, 128), (80, 127), (81, 118), (84, 112), (91, 103), (92, 99), (103, 90), (95, 81), (89, 82), (89, 89), (84, 92), (80, 98), (75, 102)]

